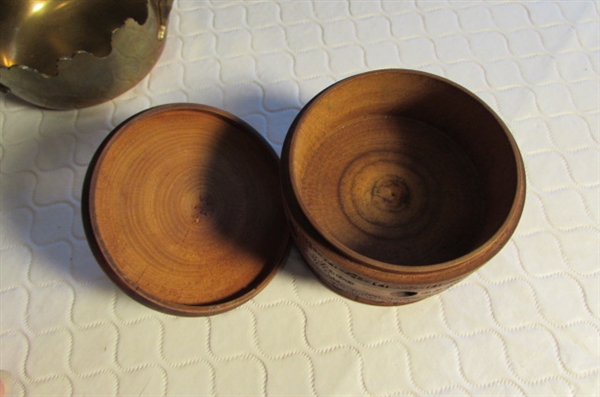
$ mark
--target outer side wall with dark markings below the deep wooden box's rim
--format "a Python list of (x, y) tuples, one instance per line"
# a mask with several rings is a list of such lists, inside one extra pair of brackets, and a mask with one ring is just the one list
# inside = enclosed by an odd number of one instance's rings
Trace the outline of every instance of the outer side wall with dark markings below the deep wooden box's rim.
[[(295, 225), (294, 225), (295, 226)], [(292, 227), (300, 253), (325, 284), (354, 300), (379, 305), (403, 305), (435, 295), (460, 280), (431, 285), (400, 285), (381, 282), (344, 269), (327, 258), (302, 233)]]

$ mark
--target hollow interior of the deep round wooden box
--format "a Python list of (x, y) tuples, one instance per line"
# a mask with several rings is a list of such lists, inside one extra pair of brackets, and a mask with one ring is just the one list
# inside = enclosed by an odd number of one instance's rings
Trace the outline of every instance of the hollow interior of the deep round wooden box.
[(517, 192), (501, 121), (458, 86), (403, 71), (326, 90), (297, 122), (290, 178), (313, 226), (386, 264), (447, 262), (488, 242)]

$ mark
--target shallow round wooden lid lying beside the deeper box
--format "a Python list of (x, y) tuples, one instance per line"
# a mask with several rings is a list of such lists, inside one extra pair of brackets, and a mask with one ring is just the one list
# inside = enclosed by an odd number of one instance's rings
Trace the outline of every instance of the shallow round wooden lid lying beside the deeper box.
[(193, 104), (117, 127), (86, 177), (82, 212), (100, 266), (154, 309), (200, 316), (246, 302), (288, 251), (277, 155), (242, 120)]

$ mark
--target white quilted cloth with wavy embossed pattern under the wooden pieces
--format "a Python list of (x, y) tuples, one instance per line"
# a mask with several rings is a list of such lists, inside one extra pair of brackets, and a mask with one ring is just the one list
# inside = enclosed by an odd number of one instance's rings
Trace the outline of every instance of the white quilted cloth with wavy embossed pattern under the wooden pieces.
[[(12, 396), (577, 395), (600, 392), (600, 12), (595, 1), (178, 0), (165, 52), (119, 98), (0, 97), (0, 368)], [(435, 73), (512, 130), (528, 176), (510, 243), (397, 308), (322, 286), (293, 250), (247, 304), (179, 318), (101, 272), (80, 219), (103, 138), (151, 106), (225, 109), (280, 150), (341, 78)], [(357, 98), (360, 100), (360, 98)]]

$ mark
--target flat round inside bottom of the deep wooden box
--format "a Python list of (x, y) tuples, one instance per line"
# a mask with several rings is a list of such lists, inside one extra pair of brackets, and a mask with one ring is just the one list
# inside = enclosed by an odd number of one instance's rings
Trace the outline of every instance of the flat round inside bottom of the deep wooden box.
[(443, 131), (402, 116), (340, 126), (308, 161), (301, 185), (329, 237), (382, 262), (455, 259), (473, 248), (483, 222), (483, 192), (467, 154)]

